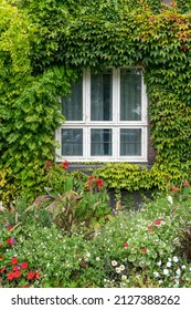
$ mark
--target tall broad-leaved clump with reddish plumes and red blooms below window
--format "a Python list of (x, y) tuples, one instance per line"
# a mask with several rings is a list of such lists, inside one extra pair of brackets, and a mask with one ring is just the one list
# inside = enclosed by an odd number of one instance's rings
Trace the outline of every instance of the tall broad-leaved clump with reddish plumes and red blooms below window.
[[(76, 183), (76, 190), (74, 190), (74, 178), (64, 172), (60, 178), (55, 179), (57, 174), (54, 175), (52, 168), (57, 172), (60, 167), (47, 167), (47, 186), (53, 185), (52, 180), (54, 180), (54, 187), (46, 186), (47, 195), (39, 196), (25, 209), (24, 216), (32, 210), (36, 217), (39, 210), (42, 209), (45, 214), (49, 213), (52, 221), (66, 234), (83, 230), (89, 236), (112, 219), (108, 194), (100, 179), (97, 179), (96, 188), (92, 186), (92, 183), (91, 187), (87, 187), (86, 184), (77, 187)], [(59, 188), (62, 188), (62, 192), (59, 192)]]

